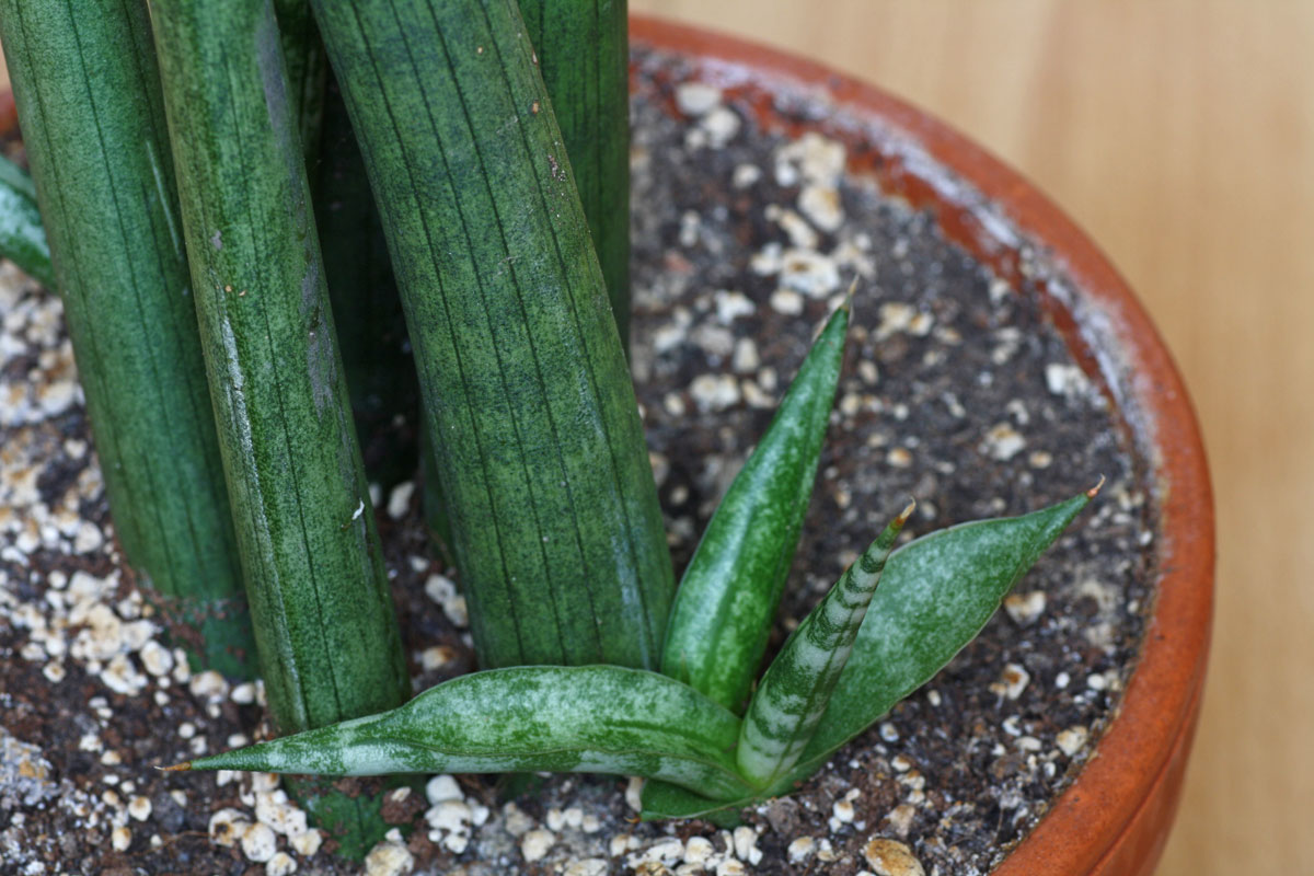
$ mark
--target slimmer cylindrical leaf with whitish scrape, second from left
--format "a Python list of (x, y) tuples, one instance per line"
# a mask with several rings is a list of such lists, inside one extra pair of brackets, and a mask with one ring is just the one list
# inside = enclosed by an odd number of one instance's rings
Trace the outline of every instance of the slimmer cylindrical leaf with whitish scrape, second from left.
[(293, 732), (392, 708), (405, 661), (272, 11), (151, 12), (271, 711)]

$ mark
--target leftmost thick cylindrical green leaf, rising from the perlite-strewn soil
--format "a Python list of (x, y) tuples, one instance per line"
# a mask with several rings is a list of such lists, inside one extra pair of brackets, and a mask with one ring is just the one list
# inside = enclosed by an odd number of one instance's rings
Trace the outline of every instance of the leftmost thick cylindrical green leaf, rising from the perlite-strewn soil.
[[(246, 674), (242, 598), (146, 7), (0, 1), (114, 529), (202, 662)], [(185, 642), (189, 646), (194, 642)]]

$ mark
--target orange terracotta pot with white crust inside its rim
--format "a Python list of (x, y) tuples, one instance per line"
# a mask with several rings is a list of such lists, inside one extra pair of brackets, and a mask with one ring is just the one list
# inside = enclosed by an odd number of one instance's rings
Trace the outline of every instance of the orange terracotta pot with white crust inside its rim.
[[(817, 125), (849, 146), (851, 169), (929, 209), (953, 240), (1008, 280), (1022, 248), (1076, 361), (1113, 401), (1158, 510), (1158, 596), (1117, 718), (1076, 781), (996, 876), (1141, 876), (1163, 851), (1190, 753), (1213, 613), (1214, 520), (1196, 418), (1158, 332), (1093, 243), (1035, 190), (942, 122), (876, 88), (778, 51), (649, 18), (635, 42), (685, 55), (702, 80), (748, 102), (767, 129), (798, 134), (777, 92), (829, 109)], [(1037, 281), (1037, 277), (1031, 277)]]

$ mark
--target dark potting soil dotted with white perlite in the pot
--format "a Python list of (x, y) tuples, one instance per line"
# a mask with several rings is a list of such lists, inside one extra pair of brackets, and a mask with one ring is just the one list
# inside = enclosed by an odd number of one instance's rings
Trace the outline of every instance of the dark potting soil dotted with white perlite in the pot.
[[(271, 776), (151, 768), (244, 742), (260, 691), (192, 675), (167, 647), (113, 549), (59, 302), (0, 268), (0, 873), (846, 876), (894, 867), (867, 856), (872, 841), (926, 873), (982, 873), (1081, 767), (1134, 662), (1154, 556), (1099, 385), (1039, 293), (846, 176), (837, 139), (762, 130), (749, 95), (686, 81), (665, 55), (635, 62), (632, 365), (677, 573), (854, 276), (773, 647), (909, 494), (912, 535), (1105, 475), (1099, 500), (945, 671), (735, 831), (635, 825), (637, 784), (612, 777), (558, 776), (511, 802), (493, 779), (443, 777), (390, 800), (409, 838), (348, 864)], [(420, 690), (472, 663), (413, 487), (376, 506)]]

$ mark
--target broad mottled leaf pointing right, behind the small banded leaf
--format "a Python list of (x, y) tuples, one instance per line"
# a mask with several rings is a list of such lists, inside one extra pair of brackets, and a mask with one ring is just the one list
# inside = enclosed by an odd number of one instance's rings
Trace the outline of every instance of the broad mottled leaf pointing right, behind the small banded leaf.
[(830, 705), (775, 793), (812, 775), (972, 641), (1099, 489), (1018, 517), (941, 529), (892, 553)]

